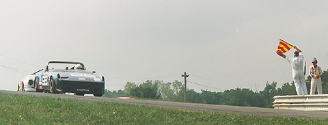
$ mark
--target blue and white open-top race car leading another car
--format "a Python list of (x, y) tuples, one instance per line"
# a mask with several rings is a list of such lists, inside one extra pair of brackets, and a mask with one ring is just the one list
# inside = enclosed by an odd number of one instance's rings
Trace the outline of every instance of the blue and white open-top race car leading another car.
[(83, 96), (102, 96), (105, 92), (105, 77), (89, 72), (84, 64), (73, 61), (49, 61), (46, 68), (35, 73), (34, 92), (72, 92)]

